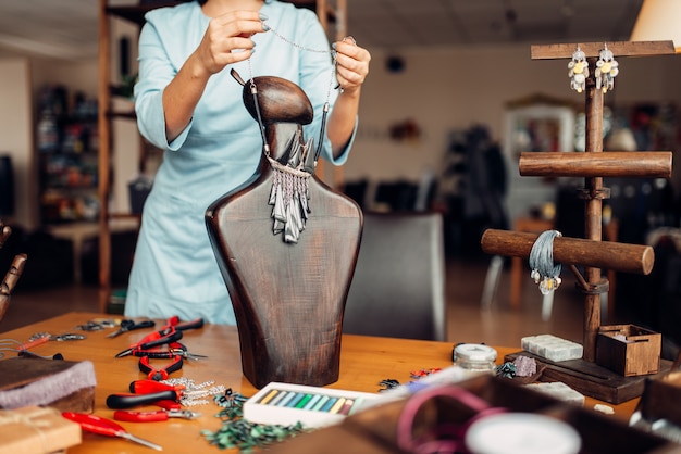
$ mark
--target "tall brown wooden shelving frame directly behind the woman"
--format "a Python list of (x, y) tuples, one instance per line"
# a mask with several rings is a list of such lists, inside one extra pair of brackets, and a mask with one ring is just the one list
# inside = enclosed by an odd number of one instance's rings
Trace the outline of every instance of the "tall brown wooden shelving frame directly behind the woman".
[[(181, 0), (183, 1), (183, 0)], [(184, 0), (186, 1), (186, 0)], [(297, 7), (308, 8), (317, 11), (320, 22), (324, 29), (335, 29), (335, 34), (330, 36), (331, 39), (345, 36), (346, 29), (346, 0), (290, 0), (290, 3)], [(112, 155), (114, 153), (114, 143), (112, 135), (113, 119), (135, 121), (135, 114), (132, 110), (114, 110), (113, 101), (116, 87), (111, 83), (111, 25), (112, 18), (127, 21), (141, 27), (145, 23), (145, 14), (153, 9), (161, 7), (176, 5), (178, 1), (153, 2), (152, 4), (135, 4), (129, 5), (110, 5), (109, 0), (99, 0), (99, 153), (98, 153), (98, 197), (101, 201), (99, 211), (99, 307), (102, 312), (107, 311), (108, 302), (111, 298), (111, 231), (112, 220), (137, 220), (139, 215), (132, 213), (111, 213), (109, 201), (112, 194), (113, 184), (113, 164)], [(144, 140), (140, 140), (140, 162), (139, 171), (145, 171), (146, 157), (149, 152), (156, 151), (149, 149)], [(320, 167), (319, 173), (323, 169)], [(335, 174), (338, 180), (339, 174)]]

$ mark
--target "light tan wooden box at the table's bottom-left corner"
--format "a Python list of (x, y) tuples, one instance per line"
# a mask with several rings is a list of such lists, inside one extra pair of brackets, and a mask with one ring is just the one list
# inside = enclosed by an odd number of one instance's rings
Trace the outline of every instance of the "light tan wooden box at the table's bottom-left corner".
[(81, 444), (81, 425), (54, 408), (25, 406), (0, 411), (0, 452), (42, 454)]

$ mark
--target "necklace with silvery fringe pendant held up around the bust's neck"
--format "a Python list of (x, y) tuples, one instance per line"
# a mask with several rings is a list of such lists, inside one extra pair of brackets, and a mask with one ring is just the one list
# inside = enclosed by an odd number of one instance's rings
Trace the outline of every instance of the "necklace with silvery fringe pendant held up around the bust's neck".
[[(301, 46), (290, 39), (284, 37), (264, 21), (262, 21), (262, 28), (265, 31), (272, 33), (287, 45), (305, 51), (313, 53), (329, 53), (332, 56), (332, 73), (329, 81), (329, 89), (326, 91), (326, 100), (322, 109), (322, 121), (319, 134), (319, 142), (314, 154), (311, 154), (313, 148), (313, 139), (310, 138), (304, 143), (301, 137), (301, 129), (299, 128), (289, 143), (288, 152), (285, 154), (285, 162), (280, 162), (270, 155), (270, 146), (267, 140), (265, 126), (262, 119), (260, 111), (260, 104), (258, 101), (258, 87), (256, 85), (256, 78), (253, 77), (252, 64), (250, 58), (248, 59), (249, 70), (249, 88), (250, 93), (253, 97), (253, 106), (256, 111), (256, 118), (260, 128), (260, 135), (262, 137), (263, 154), (270, 162), (272, 167), (272, 189), (268, 204), (272, 205), (272, 218), (273, 227), (272, 232), (274, 235), (282, 234), (283, 240), (286, 243), (297, 243), (300, 237), (300, 232), (305, 230), (306, 222), (311, 213), (309, 206), (309, 178), (314, 174), (317, 168), (317, 162), (319, 161), (324, 136), (326, 133), (326, 116), (330, 109), (331, 90), (333, 86), (334, 74), (336, 71), (336, 52), (335, 50), (321, 50), (311, 49)], [(338, 88), (338, 87), (336, 87)]]

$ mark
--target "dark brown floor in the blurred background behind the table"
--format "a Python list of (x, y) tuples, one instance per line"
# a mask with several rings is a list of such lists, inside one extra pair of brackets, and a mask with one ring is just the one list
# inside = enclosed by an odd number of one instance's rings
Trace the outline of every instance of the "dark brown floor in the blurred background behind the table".
[[(481, 295), (488, 262), (449, 261), (447, 263), (448, 340), (451, 342), (519, 345), (524, 336), (552, 333), (582, 341), (583, 295), (574, 289), (571, 276), (564, 273), (564, 285), (554, 299), (552, 317), (543, 320), (542, 295), (528, 270), (521, 307), (509, 307), (509, 269), (500, 275), (496, 300), (481, 310)], [(17, 289), (0, 331), (71, 311), (97, 311), (98, 291), (92, 286), (64, 286), (48, 290)], [(604, 311), (605, 312), (605, 311)], [(86, 321), (86, 320), (84, 320)]]

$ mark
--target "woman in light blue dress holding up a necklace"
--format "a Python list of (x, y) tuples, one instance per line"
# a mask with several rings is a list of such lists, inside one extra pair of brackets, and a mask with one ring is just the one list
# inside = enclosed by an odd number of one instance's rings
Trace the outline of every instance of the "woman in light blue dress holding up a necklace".
[(347, 160), (371, 56), (347, 39), (334, 45), (313, 12), (262, 0), (199, 0), (147, 14), (139, 37), (135, 109), (141, 134), (165, 150), (145, 203), (126, 316), (203, 317), (235, 324), (205, 225), (210, 203), (248, 179), (262, 150), (242, 101), (245, 79), (278, 76), (299, 85), (314, 108), (306, 137), (319, 137), (332, 88), (323, 155)]

